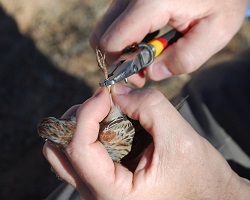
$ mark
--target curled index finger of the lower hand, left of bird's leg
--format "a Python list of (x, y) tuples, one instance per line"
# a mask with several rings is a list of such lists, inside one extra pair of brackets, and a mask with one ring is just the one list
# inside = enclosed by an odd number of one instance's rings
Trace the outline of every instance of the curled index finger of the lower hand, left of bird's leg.
[(66, 148), (67, 157), (78, 175), (92, 192), (104, 196), (106, 188), (124, 178), (117, 175), (121, 171), (132, 181), (131, 172), (120, 164), (114, 165), (103, 144), (97, 141), (99, 123), (109, 110), (110, 93), (106, 88), (102, 88), (78, 109), (76, 132)]

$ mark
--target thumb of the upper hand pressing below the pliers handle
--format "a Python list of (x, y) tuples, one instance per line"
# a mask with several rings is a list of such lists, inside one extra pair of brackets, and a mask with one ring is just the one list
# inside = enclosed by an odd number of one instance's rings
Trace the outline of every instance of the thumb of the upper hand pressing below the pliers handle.
[(158, 81), (173, 74), (195, 71), (221, 50), (232, 37), (225, 29), (218, 29), (217, 24), (220, 23), (214, 21), (211, 16), (200, 20), (146, 69), (147, 76)]

